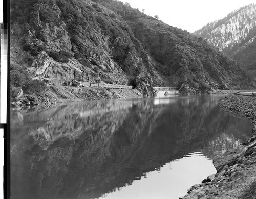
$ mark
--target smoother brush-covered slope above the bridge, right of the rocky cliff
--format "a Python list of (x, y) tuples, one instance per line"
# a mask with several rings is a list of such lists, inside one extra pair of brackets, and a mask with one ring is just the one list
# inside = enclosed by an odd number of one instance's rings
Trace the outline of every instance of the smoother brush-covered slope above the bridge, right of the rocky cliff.
[[(185, 80), (178, 85), (184, 90), (189, 87), (198, 91), (239, 88), (245, 86), (241, 80), (249, 78), (236, 61), (202, 38), (164, 25), (156, 29), (154, 26), (142, 26), (139, 22), (134, 27), (135, 36), (160, 64), (158, 71), (178, 82)], [(239, 80), (239, 85), (233, 80)]]

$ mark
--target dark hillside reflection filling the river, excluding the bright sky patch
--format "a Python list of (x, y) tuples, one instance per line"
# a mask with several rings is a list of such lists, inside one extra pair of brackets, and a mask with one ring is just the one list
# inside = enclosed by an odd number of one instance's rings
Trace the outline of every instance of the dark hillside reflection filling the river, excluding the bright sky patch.
[[(13, 112), (19, 123), (13, 122), (11, 129), (12, 198), (100, 197), (208, 146), (209, 138), (216, 140), (237, 122), (219, 110), (218, 98), (154, 102), (147, 98), (74, 103), (27, 111), (23, 121)], [(31, 127), (32, 115), (38, 122)], [(210, 142), (214, 150), (222, 147), (217, 142)]]

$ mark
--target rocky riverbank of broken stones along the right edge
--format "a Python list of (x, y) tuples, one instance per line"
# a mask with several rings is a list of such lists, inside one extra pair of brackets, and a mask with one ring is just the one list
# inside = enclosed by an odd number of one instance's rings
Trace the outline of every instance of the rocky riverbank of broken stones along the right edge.
[(256, 198), (256, 97), (229, 95), (219, 105), (254, 125), (252, 137), (237, 150), (214, 159), (217, 173), (188, 189), (183, 199)]

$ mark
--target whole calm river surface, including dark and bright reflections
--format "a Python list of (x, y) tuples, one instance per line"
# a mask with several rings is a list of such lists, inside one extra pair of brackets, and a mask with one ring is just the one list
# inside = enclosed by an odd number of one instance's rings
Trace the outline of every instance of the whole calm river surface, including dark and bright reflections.
[(11, 198), (178, 198), (250, 136), (224, 96), (113, 99), (11, 111)]

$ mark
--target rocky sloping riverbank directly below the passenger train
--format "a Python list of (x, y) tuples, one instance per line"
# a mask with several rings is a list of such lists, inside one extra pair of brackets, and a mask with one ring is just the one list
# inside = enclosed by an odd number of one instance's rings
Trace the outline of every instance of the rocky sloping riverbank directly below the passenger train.
[[(16, 93), (18, 93), (17, 91)], [(11, 106), (46, 106), (94, 99), (135, 98), (143, 96), (137, 89), (109, 89), (101, 87), (48, 86), (39, 94), (16, 94)]]

